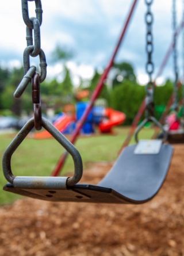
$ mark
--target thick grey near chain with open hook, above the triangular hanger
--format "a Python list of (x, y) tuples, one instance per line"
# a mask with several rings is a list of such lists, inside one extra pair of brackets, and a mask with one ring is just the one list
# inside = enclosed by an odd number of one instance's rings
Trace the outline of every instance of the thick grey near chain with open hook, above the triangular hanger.
[[(21, 0), (22, 1), (22, 18), (26, 24), (26, 42), (27, 47), (24, 50), (23, 62), (24, 62), (24, 78), (17, 90), (14, 93), (14, 97), (21, 97), (22, 93), (32, 81), (32, 99), (34, 105), (34, 127), (37, 130), (41, 129), (41, 100), (40, 100), (40, 83), (43, 82), (47, 75), (47, 63), (43, 49), (41, 49), (40, 40), (40, 26), (42, 23), (41, 0)], [(29, 18), (28, 2), (35, 2), (36, 17)], [(33, 32), (34, 32), (34, 44), (33, 44)], [(36, 72), (36, 67), (30, 67), (30, 56), (40, 58), (40, 75)], [(35, 101), (36, 98), (36, 101)]]

